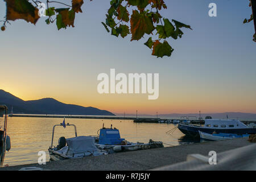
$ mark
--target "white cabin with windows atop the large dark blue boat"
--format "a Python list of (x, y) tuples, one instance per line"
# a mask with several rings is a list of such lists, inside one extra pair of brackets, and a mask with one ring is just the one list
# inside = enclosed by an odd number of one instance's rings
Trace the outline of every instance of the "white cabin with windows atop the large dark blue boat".
[(205, 128), (215, 129), (243, 129), (248, 128), (241, 121), (236, 119), (205, 119)]

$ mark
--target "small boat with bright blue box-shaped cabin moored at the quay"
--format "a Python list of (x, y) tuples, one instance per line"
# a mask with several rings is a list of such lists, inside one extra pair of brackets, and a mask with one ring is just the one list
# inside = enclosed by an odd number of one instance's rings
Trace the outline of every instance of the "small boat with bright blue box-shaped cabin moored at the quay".
[(102, 129), (98, 131), (100, 131), (100, 135), (96, 139), (96, 146), (101, 150), (109, 150), (109, 152), (134, 151), (164, 147), (163, 142), (154, 142), (151, 139), (148, 143), (127, 142), (127, 140), (120, 137), (118, 129), (112, 128), (112, 125), (110, 129), (103, 126)]

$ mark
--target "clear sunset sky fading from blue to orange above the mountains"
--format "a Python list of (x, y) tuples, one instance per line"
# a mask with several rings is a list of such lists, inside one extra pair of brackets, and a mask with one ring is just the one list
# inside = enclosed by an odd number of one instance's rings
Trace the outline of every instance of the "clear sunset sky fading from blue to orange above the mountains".
[[(85, 1), (75, 27), (57, 30), (45, 18), (36, 26), (16, 20), (0, 32), (0, 89), (23, 100), (52, 97), (66, 104), (113, 113), (256, 113), (256, 43), (249, 1), (168, 0), (162, 14), (189, 24), (181, 39), (170, 39), (171, 57), (156, 58), (143, 45), (106, 32), (101, 22), (109, 0)], [(217, 17), (208, 5), (217, 4)], [(0, 1), (0, 19), (5, 16)], [(99, 94), (97, 76), (159, 73), (159, 98), (148, 94)]]

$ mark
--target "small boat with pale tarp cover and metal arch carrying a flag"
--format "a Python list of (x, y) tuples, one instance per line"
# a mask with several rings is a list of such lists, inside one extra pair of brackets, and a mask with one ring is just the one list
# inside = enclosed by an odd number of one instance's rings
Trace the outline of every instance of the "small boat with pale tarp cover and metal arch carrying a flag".
[[(54, 130), (56, 126), (73, 126), (75, 127), (75, 137), (65, 138), (60, 137), (58, 146), (53, 146)], [(60, 125), (54, 125), (52, 131), (52, 143), (49, 147), (49, 156), (51, 160), (77, 159), (85, 158), (86, 156), (97, 156), (108, 154), (107, 151), (99, 150), (95, 145), (95, 137), (79, 136), (77, 137), (75, 125), (65, 125), (65, 119)]]

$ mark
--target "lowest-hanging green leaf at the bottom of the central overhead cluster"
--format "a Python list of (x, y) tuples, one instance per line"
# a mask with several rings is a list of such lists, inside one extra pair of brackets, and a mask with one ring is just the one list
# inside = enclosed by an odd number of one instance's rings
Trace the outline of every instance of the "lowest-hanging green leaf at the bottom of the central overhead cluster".
[(163, 43), (160, 43), (158, 40), (154, 42), (152, 55), (157, 57), (171, 56), (174, 49), (168, 44), (166, 40)]

